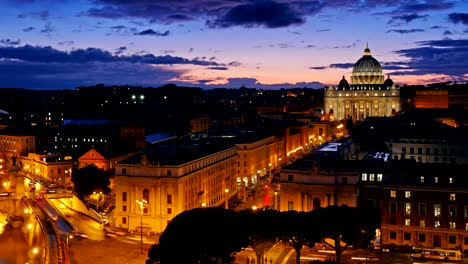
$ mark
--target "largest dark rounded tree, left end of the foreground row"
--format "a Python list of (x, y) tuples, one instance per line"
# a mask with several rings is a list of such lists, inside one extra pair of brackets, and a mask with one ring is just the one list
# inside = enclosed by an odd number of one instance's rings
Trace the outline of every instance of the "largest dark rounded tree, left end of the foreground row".
[(233, 263), (234, 253), (248, 246), (243, 223), (239, 213), (224, 208), (196, 208), (182, 212), (161, 234), (159, 245), (152, 246), (148, 262)]

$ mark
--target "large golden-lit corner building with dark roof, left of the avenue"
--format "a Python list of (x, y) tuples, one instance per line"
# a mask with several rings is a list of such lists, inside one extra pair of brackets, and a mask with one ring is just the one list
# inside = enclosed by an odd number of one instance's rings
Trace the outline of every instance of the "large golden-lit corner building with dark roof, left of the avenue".
[[(231, 142), (187, 137), (154, 144), (117, 163), (115, 226), (162, 232), (183, 211), (226, 206), (237, 193), (236, 160)], [(145, 201), (142, 207), (137, 200)]]

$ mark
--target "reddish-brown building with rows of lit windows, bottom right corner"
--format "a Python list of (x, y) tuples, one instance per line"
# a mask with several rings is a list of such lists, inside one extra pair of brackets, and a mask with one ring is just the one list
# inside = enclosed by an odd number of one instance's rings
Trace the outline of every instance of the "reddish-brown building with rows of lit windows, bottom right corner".
[(468, 249), (466, 165), (365, 163), (360, 206), (380, 212), (382, 245)]

